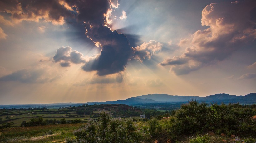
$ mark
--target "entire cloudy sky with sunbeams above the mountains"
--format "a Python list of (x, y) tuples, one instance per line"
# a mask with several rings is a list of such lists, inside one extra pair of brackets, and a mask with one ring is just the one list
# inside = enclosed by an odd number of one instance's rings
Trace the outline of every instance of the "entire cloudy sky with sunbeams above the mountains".
[(255, 0), (1, 0), (0, 104), (256, 92)]

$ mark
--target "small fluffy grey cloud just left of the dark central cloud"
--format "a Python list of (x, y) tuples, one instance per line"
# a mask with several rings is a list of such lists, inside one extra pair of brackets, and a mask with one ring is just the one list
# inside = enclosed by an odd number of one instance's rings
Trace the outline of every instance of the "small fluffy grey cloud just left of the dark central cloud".
[(82, 53), (72, 50), (71, 47), (60, 47), (57, 49), (56, 54), (53, 56), (55, 62), (61, 62), (62, 67), (70, 66), (70, 63), (80, 64), (86, 63), (86, 57)]

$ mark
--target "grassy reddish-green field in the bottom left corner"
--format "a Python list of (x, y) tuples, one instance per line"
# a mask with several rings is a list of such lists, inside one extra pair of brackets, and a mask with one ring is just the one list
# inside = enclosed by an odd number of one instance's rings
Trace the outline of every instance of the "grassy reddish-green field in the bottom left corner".
[(0, 142), (30, 143), (56, 142), (63, 143), (67, 138), (74, 138), (73, 130), (82, 124), (60, 124), (36, 127), (12, 127), (0, 129)]

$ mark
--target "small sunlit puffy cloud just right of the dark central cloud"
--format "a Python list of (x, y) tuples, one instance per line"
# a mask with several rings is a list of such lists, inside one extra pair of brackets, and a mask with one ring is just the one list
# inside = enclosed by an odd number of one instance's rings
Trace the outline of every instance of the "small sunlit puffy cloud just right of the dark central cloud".
[(161, 51), (163, 44), (155, 40), (150, 40), (149, 42), (144, 42), (140, 46), (133, 48), (134, 59), (142, 62), (145, 59), (151, 59), (151, 56)]

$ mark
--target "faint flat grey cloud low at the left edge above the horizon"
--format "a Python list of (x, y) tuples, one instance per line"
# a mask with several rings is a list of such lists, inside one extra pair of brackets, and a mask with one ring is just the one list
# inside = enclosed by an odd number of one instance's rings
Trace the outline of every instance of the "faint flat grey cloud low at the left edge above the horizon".
[(17, 70), (11, 74), (0, 77), (0, 81), (17, 81), (21, 83), (47, 83), (53, 82), (62, 77), (62, 75), (49, 76), (49, 67), (39, 65), (27, 69)]

